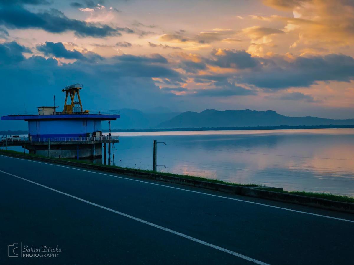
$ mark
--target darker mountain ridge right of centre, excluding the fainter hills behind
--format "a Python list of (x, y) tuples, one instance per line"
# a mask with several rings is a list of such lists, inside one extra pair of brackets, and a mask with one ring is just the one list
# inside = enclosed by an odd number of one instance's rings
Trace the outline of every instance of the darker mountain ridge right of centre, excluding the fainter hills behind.
[(312, 126), (354, 125), (354, 119), (326, 119), (317, 117), (289, 117), (275, 111), (205, 110), (200, 113), (187, 111), (161, 122), (156, 128), (217, 128), (247, 126)]

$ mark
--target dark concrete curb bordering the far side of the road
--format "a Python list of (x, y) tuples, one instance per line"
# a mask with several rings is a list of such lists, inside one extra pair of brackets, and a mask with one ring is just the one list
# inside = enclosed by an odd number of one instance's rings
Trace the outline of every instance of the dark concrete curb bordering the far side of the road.
[(199, 181), (199, 180), (194, 180), (194, 179), (187, 179), (187, 178), (159, 175), (159, 174), (154, 174), (154, 173), (140, 172), (140, 171), (136, 171), (136, 170), (128, 170), (128, 169), (120, 169), (120, 168), (107, 167), (107, 166), (76, 163), (76, 162), (72, 162), (72, 161), (65, 161), (65, 160), (58, 160), (58, 159), (32, 157), (29, 155), (11, 154), (11, 153), (5, 153), (5, 152), (0, 152), (0, 154), (4, 154), (9, 157), (17, 157), (17, 158), (24, 158), (24, 159), (29, 159), (29, 160), (49, 162), (49, 163), (54, 163), (54, 164), (82, 167), (82, 168), (86, 168), (86, 169), (105, 171), (105, 172), (122, 174), (122, 175), (127, 175), (127, 176), (132, 176), (132, 177), (138, 177), (138, 178), (154, 179), (157, 181), (164, 181), (164, 182), (182, 184), (182, 185), (198, 187), (198, 188), (203, 188), (203, 189), (216, 190), (216, 191), (224, 192), (224, 193), (238, 194), (238, 195), (250, 196), (250, 197), (255, 197), (255, 198), (274, 200), (274, 201), (282, 201), (282, 202), (288, 202), (288, 203), (299, 204), (299, 205), (306, 205), (306, 206), (322, 208), (322, 209), (332, 210), (332, 211), (354, 213), (354, 203), (349, 203), (349, 202), (331, 201), (331, 200), (326, 200), (326, 199), (321, 199), (321, 198), (313, 198), (313, 197), (307, 197), (307, 196), (301, 196), (301, 195), (295, 195), (295, 194), (274, 192), (274, 191), (262, 190), (262, 189), (257, 189), (257, 188), (226, 185), (226, 184), (213, 183), (213, 182), (207, 182), (207, 181)]

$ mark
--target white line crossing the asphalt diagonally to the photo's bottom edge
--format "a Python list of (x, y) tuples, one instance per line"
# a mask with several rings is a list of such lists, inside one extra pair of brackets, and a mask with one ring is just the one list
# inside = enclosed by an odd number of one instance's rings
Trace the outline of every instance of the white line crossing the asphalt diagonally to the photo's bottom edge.
[(217, 250), (219, 250), (219, 251), (223, 251), (223, 252), (225, 252), (225, 253), (234, 255), (234, 256), (236, 256), (236, 257), (238, 257), (238, 258), (245, 259), (245, 260), (251, 261), (251, 262), (256, 263), (256, 264), (269, 265), (269, 264), (267, 264), (267, 263), (264, 263), (264, 262), (259, 261), (259, 260), (256, 260), (256, 259), (252, 259), (252, 258), (247, 257), (247, 256), (245, 256), (245, 255), (242, 255), (242, 254), (240, 254), (240, 253), (237, 253), (237, 252), (234, 252), (234, 251), (230, 251), (230, 250), (228, 250), (228, 249), (226, 249), (226, 248), (222, 248), (222, 247), (219, 247), (219, 246), (210, 244), (210, 243), (208, 243), (208, 242), (199, 240), (199, 239), (197, 239), (197, 238), (194, 238), (194, 237), (191, 237), (191, 236), (187, 236), (187, 235), (182, 234), (182, 233), (180, 233), (180, 232), (177, 232), (177, 231), (174, 231), (174, 230), (165, 228), (165, 227), (160, 226), (160, 225), (157, 225), (157, 224), (150, 223), (150, 222), (148, 222), (148, 221), (145, 221), (145, 220), (143, 220), (143, 219), (136, 218), (136, 217), (131, 216), (131, 215), (129, 215), (129, 214), (115, 211), (115, 210), (113, 210), (113, 209), (111, 209), (111, 208), (107, 208), (107, 207), (104, 207), (104, 206), (102, 206), (102, 205), (95, 204), (95, 203), (93, 203), (93, 202), (91, 202), (91, 201), (87, 201), (87, 200), (81, 199), (81, 198), (79, 198), (79, 197), (76, 197), (76, 196), (74, 196), (74, 195), (71, 195), (71, 194), (68, 194), (68, 193), (65, 193), (65, 192), (61, 192), (60, 190), (52, 189), (52, 188), (47, 187), (47, 186), (45, 186), (45, 185), (42, 185), (42, 184), (39, 184), (39, 183), (37, 183), (37, 182), (30, 181), (30, 180), (28, 180), (28, 179), (25, 179), (25, 178), (22, 178), (22, 177), (13, 175), (13, 174), (11, 174), (11, 173), (7, 173), (7, 172), (2, 171), (2, 170), (0, 170), (0, 172), (2, 172), (2, 173), (4, 173), (4, 174), (7, 174), (7, 175), (10, 175), (10, 176), (13, 176), (13, 177), (16, 177), (16, 178), (19, 178), (19, 179), (22, 179), (22, 180), (24, 180), (24, 181), (28, 181), (28, 182), (33, 183), (33, 184), (36, 184), (36, 185), (38, 185), (38, 186), (40, 186), (40, 187), (43, 187), (43, 188), (52, 190), (53, 192), (57, 192), (57, 193), (60, 193), (60, 194), (69, 196), (69, 197), (71, 197), (71, 198), (74, 198), (74, 199), (76, 199), (76, 200), (86, 202), (87, 204), (91, 204), (91, 205), (93, 205), (93, 206), (97, 206), (97, 207), (102, 208), (102, 209), (104, 209), (104, 210), (107, 210), (107, 211), (110, 211), (110, 212), (114, 212), (114, 213), (119, 214), (119, 215), (121, 215), (121, 216), (125, 216), (125, 217), (127, 217), (127, 218), (130, 218), (130, 219), (136, 220), (136, 221), (138, 221), (138, 222), (141, 222), (141, 223), (143, 223), (143, 224), (147, 224), (147, 225), (153, 226), (153, 227), (155, 227), (155, 228), (158, 228), (158, 229), (161, 229), (161, 230), (170, 232), (170, 233), (172, 233), (172, 234), (175, 234), (175, 235), (177, 235), (177, 236), (181, 236), (181, 237), (183, 237), (183, 238), (192, 240), (192, 241), (197, 242), (197, 243), (200, 243), (200, 244), (202, 244), (202, 245), (205, 245), (205, 246), (208, 246), (208, 247), (211, 247), (211, 248), (215, 248), (215, 249), (217, 249)]

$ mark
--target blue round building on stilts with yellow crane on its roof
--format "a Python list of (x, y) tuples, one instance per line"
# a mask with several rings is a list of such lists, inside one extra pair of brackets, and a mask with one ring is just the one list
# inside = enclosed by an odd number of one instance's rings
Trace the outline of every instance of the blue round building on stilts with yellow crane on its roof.
[[(102, 157), (102, 144), (106, 149), (108, 143), (110, 151), (110, 144), (119, 142), (118, 136), (102, 135), (102, 121), (116, 120), (120, 115), (118, 111), (92, 113), (83, 110), (80, 89), (81, 84), (62, 89), (65, 93), (63, 111), (56, 111), (57, 106), (41, 106), (38, 107), (38, 114), (8, 115), (2, 116), (1, 120), (28, 122), (28, 138), (23, 140), (23, 147), (30, 153), (53, 158)], [(15, 142), (8, 144), (16, 145)], [(106, 160), (105, 158), (104, 161)]]

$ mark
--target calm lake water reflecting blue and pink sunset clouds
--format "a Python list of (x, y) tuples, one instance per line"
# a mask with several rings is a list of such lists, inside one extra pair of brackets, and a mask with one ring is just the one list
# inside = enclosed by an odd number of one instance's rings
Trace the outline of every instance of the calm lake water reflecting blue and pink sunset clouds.
[[(114, 133), (115, 165), (354, 196), (354, 129)], [(166, 167), (165, 167), (166, 166)]]

